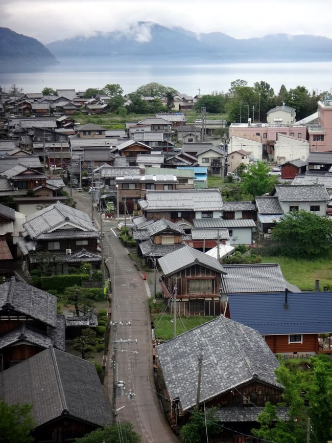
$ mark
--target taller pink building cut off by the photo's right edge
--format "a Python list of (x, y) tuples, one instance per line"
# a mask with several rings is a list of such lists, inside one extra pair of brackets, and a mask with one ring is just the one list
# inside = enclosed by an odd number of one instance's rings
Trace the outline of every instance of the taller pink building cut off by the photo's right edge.
[(332, 150), (332, 97), (318, 102), (318, 125), (307, 129), (311, 152)]

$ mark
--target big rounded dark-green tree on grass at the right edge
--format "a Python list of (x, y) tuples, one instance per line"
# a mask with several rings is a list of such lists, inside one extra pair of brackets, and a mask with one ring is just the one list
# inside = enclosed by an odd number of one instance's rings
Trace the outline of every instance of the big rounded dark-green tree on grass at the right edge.
[(283, 215), (272, 231), (283, 254), (293, 257), (329, 254), (332, 220), (313, 212), (292, 211)]

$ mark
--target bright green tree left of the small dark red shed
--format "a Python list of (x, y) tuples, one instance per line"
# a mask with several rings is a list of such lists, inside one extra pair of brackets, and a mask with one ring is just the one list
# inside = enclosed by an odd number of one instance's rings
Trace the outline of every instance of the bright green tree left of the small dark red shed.
[(256, 165), (249, 165), (248, 172), (242, 175), (240, 183), (244, 194), (250, 194), (253, 197), (271, 192), (278, 183), (276, 176), (268, 176), (270, 166), (267, 163), (257, 161)]

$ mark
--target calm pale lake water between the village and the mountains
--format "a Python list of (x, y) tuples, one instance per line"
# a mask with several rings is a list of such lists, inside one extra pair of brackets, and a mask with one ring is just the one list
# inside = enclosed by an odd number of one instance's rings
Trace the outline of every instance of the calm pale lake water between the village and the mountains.
[[(97, 69), (98, 67), (98, 69)], [(275, 93), (281, 84), (287, 89), (305, 86), (310, 92), (330, 91), (332, 86), (332, 62), (308, 63), (226, 63), (226, 64), (102, 64), (93, 68), (84, 63), (61, 62), (38, 73), (0, 74), (0, 85), (8, 91), (16, 84), (26, 93), (38, 93), (45, 86), (54, 89), (75, 88), (84, 91), (88, 87), (102, 88), (107, 83), (120, 83), (125, 93), (135, 91), (142, 84), (152, 81), (172, 86), (188, 95), (227, 92), (230, 82), (241, 78), (252, 86), (255, 81), (268, 82)]]

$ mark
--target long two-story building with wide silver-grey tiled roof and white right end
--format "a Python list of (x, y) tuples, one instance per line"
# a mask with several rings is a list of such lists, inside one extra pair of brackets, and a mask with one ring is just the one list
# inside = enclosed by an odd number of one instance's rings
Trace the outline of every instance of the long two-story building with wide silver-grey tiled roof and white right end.
[(176, 223), (182, 219), (219, 219), (223, 202), (219, 189), (147, 190), (145, 198), (138, 201), (143, 215), (165, 218)]

